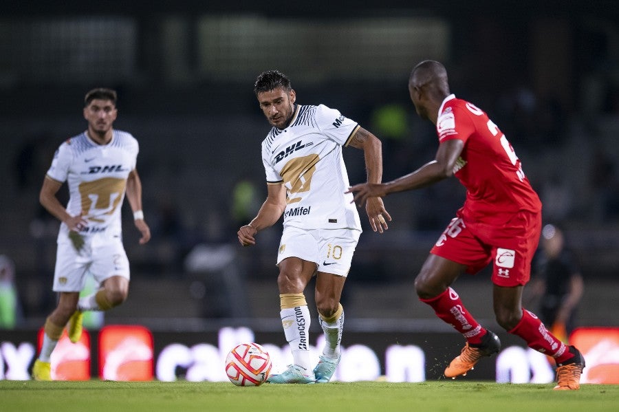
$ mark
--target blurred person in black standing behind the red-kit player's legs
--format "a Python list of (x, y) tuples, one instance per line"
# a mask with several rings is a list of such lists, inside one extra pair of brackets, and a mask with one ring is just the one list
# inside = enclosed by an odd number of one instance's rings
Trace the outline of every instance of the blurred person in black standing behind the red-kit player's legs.
[(583, 296), (583, 277), (563, 231), (553, 224), (542, 230), (533, 274), (530, 290), (532, 299), (539, 299), (539, 317), (552, 334), (567, 343)]

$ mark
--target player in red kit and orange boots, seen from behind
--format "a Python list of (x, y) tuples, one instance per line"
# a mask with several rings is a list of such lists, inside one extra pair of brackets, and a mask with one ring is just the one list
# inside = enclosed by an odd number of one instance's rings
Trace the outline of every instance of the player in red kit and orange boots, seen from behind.
[(435, 160), (383, 184), (349, 189), (355, 202), (368, 197), (422, 188), (455, 175), (466, 187), (466, 201), (430, 251), (415, 279), (420, 300), (464, 338), (461, 354), (445, 376), (466, 375), (484, 356), (501, 349), (497, 335), (466, 310), (450, 285), (462, 272), (475, 274), (492, 262), (497, 323), (523, 338), (529, 347), (552, 356), (557, 365), (554, 389), (579, 389), (585, 359), (548, 332), (539, 318), (521, 306), (523, 286), (541, 231), (541, 202), (523, 173), (507, 138), (488, 115), (450, 94), (445, 67), (423, 61), (413, 68), (409, 93), (417, 114), (436, 125)]

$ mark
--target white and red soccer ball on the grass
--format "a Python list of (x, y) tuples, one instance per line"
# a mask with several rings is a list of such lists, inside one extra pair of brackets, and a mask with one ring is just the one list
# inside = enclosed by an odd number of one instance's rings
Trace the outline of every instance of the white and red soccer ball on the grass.
[(271, 358), (257, 343), (241, 343), (226, 357), (226, 375), (237, 387), (257, 387), (271, 373)]

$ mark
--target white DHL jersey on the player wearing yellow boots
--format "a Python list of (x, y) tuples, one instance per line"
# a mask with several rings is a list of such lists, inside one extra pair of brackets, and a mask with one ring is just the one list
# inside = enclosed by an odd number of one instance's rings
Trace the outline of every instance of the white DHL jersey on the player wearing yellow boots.
[[(58, 148), (47, 176), (57, 182), (67, 182), (69, 215), (84, 211), (88, 226), (80, 235), (97, 235), (102, 239), (120, 237), (120, 209), (138, 151), (138, 140), (117, 130), (108, 144), (96, 144), (84, 132)], [(61, 224), (58, 243), (68, 241), (68, 232), (67, 225)]]

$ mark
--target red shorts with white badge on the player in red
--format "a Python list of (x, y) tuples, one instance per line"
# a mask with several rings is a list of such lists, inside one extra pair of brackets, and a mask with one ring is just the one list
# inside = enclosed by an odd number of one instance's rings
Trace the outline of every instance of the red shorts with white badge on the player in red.
[(505, 224), (469, 222), (460, 211), (430, 252), (466, 265), (475, 274), (493, 261), (492, 283), (518, 286), (531, 276), (531, 261), (539, 243), (541, 214), (521, 211)]

